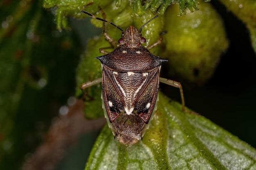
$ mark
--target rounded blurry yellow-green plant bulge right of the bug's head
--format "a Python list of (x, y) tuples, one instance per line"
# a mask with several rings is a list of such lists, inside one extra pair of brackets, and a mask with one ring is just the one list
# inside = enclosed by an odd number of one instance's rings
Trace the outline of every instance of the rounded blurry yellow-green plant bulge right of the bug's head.
[(177, 5), (166, 11), (164, 55), (170, 75), (201, 85), (213, 75), (228, 40), (220, 15), (210, 3), (199, 2), (200, 11), (187, 15), (177, 16)]

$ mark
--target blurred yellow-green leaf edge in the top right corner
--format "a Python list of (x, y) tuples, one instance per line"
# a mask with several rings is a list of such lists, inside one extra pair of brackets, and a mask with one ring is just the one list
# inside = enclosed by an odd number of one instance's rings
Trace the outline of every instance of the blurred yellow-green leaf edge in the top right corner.
[(256, 1), (255, 0), (220, 0), (229, 11), (242, 20), (251, 33), (252, 46), (256, 53)]

